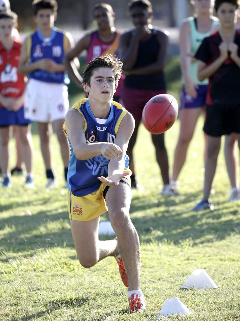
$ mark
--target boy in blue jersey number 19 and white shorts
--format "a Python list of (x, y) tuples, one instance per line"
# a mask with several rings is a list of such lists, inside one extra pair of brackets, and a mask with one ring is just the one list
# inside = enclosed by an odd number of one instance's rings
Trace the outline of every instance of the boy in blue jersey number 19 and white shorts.
[(62, 125), (69, 102), (68, 88), (64, 83), (66, 68), (63, 59), (73, 48), (73, 39), (68, 32), (54, 27), (58, 8), (55, 0), (35, 0), (32, 5), (37, 30), (28, 35), (23, 43), (19, 72), (29, 77), (25, 115), (37, 122), (46, 168), (46, 188), (50, 188), (56, 186), (50, 152), (50, 122), (53, 123), (60, 144), (67, 180), (69, 145)]

